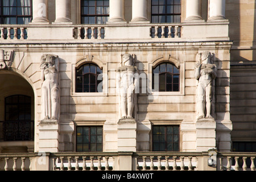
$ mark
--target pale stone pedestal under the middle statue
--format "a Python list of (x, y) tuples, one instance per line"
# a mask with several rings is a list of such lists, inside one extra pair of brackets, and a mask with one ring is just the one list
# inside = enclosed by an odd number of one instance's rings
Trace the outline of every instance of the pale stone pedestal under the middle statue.
[(136, 152), (135, 119), (119, 119), (117, 123), (117, 150), (118, 152)]

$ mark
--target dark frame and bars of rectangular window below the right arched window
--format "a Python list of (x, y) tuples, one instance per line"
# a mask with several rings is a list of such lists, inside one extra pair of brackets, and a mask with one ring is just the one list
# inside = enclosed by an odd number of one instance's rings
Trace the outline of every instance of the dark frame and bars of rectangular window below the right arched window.
[[(158, 143), (164, 143), (164, 150), (154, 150), (154, 127), (164, 127), (164, 142), (158, 142)], [(177, 134), (172, 134), (172, 142), (167, 142), (167, 127), (172, 127), (172, 131), (174, 131), (174, 127), (178, 128)], [(177, 142), (174, 142), (174, 135), (177, 135)], [(157, 152), (179, 152), (180, 151), (180, 125), (152, 125), (152, 151)], [(167, 144), (172, 144), (172, 150), (167, 150)], [(174, 143), (177, 144), (177, 150), (174, 150)], [(158, 147), (159, 148), (159, 147)]]

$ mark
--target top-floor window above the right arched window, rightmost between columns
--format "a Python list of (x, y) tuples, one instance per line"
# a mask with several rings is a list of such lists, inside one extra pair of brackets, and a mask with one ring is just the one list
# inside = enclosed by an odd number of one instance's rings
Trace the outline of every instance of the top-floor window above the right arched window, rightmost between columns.
[(152, 23), (179, 23), (181, 0), (151, 0)]

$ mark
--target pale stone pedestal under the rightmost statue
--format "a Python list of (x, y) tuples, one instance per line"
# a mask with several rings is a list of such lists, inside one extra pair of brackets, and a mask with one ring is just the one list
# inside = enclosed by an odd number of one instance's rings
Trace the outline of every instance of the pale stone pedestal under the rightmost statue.
[(216, 122), (213, 118), (201, 118), (196, 122), (196, 151), (208, 151), (216, 147)]

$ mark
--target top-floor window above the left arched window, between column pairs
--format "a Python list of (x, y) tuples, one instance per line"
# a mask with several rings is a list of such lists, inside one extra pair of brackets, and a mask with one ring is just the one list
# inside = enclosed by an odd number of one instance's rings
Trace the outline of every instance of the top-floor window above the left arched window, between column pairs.
[(109, 19), (109, 0), (81, 0), (81, 23), (103, 24)]

